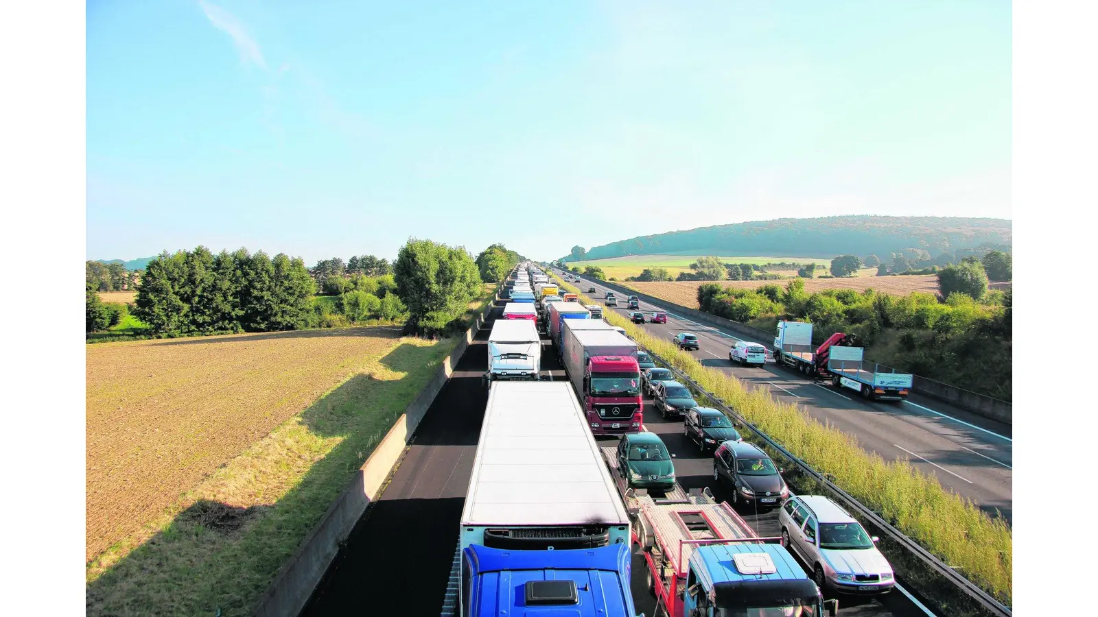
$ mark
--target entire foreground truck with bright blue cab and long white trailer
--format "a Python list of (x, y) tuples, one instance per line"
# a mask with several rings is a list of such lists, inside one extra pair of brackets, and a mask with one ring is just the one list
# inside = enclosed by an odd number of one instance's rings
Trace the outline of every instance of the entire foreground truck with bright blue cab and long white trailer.
[(635, 617), (629, 515), (568, 382), (489, 392), (442, 615)]

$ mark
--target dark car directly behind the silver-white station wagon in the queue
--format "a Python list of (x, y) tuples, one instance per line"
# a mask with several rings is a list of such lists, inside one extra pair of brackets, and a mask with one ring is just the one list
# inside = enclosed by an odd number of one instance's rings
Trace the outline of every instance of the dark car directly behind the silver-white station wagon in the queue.
[(789, 495), (782, 470), (747, 441), (725, 441), (713, 453), (713, 479), (732, 490), (732, 505), (777, 507)]

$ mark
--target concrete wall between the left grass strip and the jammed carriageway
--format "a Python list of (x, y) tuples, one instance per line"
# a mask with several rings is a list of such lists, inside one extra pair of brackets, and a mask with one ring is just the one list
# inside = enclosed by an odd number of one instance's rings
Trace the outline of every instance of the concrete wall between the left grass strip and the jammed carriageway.
[(466, 330), (453, 351), (442, 359), (442, 363), (427, 382), (427, 385), (408, 404), (404, 414), (396, 419), (385, 437), (370, 453), (370, 458), (351, 475), (347, 486), (328, 506), (316, 527), (298, 547), (293, 556), (282, 564), (274, 581), (259, 599), (259, 606), (255, 613), (257, 617), (296, 617), (301, 613), (332, 560), (339, 552), (339, 545), (350, 535), (355, 524), (362, 517), (370, 503), (380, 496), (381, 485), (389, 478), (393, 465), (404, 455), (407, 442), (415, 434), (424, 414), (435, 401), (435, 396), (446, 385), (446, 381), (453, 374), (455, 364), (466, 352), (469, 344), (472, 343), (484, 324), (489, 312), (495, 305), (495, 300), (498, 299), (500, 292), (497, 291), (484, 312), (478, 315), (473, 324)]

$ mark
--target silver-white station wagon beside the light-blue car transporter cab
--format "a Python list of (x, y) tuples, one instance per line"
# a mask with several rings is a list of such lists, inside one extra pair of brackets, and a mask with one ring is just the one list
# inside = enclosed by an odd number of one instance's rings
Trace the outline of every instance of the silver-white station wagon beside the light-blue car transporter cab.
[(822, 495), (789, 497), (778, 511), (785, 546), (799, 556), (825, 593), (884, 594), (896, 584), (892, 565), (852, 516)]

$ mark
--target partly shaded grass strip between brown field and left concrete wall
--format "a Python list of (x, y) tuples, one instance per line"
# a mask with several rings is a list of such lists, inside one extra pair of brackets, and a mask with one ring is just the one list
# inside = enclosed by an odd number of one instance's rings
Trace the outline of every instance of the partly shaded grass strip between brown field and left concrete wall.
[[(494, 289), (474, 304), (485, 307)], [(458, 343), (401, 339), (180, 495), (142, 534), (88, 563), (86, 614), (253, 613), (279, 568)]]

